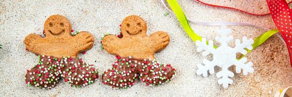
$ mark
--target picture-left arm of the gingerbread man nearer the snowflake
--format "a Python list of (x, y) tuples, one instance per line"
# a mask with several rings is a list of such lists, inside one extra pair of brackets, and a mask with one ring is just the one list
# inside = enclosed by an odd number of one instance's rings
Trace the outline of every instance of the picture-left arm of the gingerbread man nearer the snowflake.
[(120, 38), (115, 35), (107, 35), (102, 40), (103, 48), (112, 55), (118, 55), (119, 49), (122, 48)]

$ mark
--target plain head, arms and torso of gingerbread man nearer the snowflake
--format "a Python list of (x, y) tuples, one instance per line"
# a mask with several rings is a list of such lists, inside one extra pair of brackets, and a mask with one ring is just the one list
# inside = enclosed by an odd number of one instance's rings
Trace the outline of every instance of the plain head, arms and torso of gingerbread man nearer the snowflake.
[(146, 22), (139, 16), (128, 16), (121, 24), (122, 38), (107, 35), (102, 40), (103, 48), (113, 55), (132, 56), (136, 59), (154, 59), (154, 53), (164, 49), (169, 41), (166, 32), (146, 35)]

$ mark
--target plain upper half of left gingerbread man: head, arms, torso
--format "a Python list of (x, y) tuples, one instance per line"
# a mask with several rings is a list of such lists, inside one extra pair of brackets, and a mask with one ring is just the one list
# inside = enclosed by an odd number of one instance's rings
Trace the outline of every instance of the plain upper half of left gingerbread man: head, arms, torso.
[(94, 43), (93, 35), (80, 32), (71, 36), (71, 24), (65, 16), (50, 16), (44, 24), (44, 34), (29, 34), (24, 43), (27, 50), (38, 55), (48, 55), (61, 58), (76, 57), (79, 52), (91, 49)]

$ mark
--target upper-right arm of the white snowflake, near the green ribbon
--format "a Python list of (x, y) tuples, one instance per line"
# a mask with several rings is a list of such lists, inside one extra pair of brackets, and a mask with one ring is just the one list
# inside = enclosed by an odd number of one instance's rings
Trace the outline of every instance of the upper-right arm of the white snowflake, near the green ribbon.
[(249, 49), (249, 50), (252, 50), (253, 49), (253, 43), (254, 43), (254, 40), (253, 39), (247, 39), (247, 37), (242, 37), (242, 44), (240, 43), (240, 40), (239, 39), (236, 39), (235, 40), (235, 52), (240, 52), (242, 54), (246, 54), (247, 51), (244, 49)]

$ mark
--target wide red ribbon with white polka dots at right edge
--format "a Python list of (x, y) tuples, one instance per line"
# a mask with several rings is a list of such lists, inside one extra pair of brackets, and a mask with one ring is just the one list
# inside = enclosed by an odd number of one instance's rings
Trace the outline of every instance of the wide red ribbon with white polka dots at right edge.
[(282, 34), (292, 65), (292, 10), (286, 0), (267, 0), (273, 21)]

